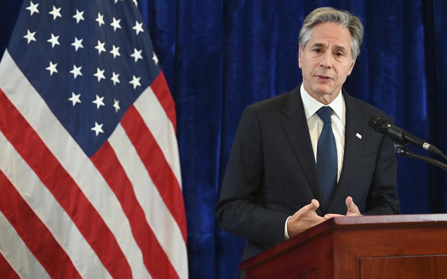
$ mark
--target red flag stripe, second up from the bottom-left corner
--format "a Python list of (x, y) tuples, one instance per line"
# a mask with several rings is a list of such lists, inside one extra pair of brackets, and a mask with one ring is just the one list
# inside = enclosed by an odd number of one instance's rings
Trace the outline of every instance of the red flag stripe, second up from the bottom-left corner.
[(48, 274), (52, 278), (81, 278), (51, 232), (1, 171), (0, 192), (1, 212)]

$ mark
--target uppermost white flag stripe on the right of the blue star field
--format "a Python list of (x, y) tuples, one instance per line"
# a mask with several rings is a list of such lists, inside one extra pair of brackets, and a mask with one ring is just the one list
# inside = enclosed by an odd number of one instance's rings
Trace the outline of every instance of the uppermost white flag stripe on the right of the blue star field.
[(135, 101), (134, 106), (143, 118), (144, 124), (151, 131), (158, 146), (160, 146), (166, 162), (168, 162), (175, 178), (177, 178), (178, 185), (182, 188), (175, 130), (152, 88), (147, 87)]

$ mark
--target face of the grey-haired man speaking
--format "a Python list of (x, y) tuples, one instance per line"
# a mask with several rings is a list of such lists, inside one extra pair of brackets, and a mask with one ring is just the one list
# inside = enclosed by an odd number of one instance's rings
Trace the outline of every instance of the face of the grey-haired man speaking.
[(303, 85), (310, 96), (323, 104), (331, 103), (351, 74), (351, 34), (336, 23), (312, 28), (306, 48), (300, 45), (299, 66)]

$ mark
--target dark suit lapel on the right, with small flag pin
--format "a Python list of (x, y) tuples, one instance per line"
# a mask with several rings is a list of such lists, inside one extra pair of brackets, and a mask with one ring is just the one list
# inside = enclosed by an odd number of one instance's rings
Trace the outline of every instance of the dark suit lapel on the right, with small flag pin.
[[(343, 89), (343, 96), (346, 106), (346, 127), (345, 144), (343, 155), (343, 167), (341, 169), (340, 179), (334, 191), (327, 213), (334, 212), (337, 204), (344, 203), (346, 191), (348, 190), (354, 171), (360, 160), (364, 143), (367, 139), (367, 117), (355, 104), (355, 99), (349, 96)], [(359, 139), (357, 134), (361, 135)]]

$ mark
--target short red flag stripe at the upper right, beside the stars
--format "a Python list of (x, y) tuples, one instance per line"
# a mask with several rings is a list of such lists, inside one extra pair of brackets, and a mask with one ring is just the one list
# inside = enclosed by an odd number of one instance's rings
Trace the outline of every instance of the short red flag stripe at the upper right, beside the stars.
[(151, 86), (152, 91), (154, 91), (155, 96), (158, 101), (162, 105), (166, 114), (168, 115), (169, 120), (172, 122), (172, 126), (174, 126), (174, 131), (177, 131), (177, 117), (175, 115), (175, 103), (172, 99), (171, 93), (169, 92), (168, 84), (166, 83), (165, 75), (162, 71), (158, 77), (152, 82)]

